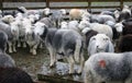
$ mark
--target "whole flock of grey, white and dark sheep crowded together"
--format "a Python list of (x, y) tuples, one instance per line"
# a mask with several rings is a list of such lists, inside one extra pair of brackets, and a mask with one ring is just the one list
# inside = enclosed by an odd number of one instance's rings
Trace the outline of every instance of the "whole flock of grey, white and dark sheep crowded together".
[[(37, 55), (36, 49), (45, 43), (51, 68), (61, 56), (69, 62), (69, 74), (75, 72), (75, 63), (80, 64), (77, 73), (85, 72), (85, 83), (132, 83), (132, 52), (127, 52), (132, 50), (131, 13), (128, 5), (99, 14), (80, 9), (52, 11), (24, 7), (10, 14), (1, 11), (0, 57), (6, 54), (7, 44), (10, 54), (16, 52), (16, 47), (29, 46), (30, 52)], [(89, 56), (87, 61), (84, 49)], [(14, 61), (6, 56), (3, 67), (14, 67)]]

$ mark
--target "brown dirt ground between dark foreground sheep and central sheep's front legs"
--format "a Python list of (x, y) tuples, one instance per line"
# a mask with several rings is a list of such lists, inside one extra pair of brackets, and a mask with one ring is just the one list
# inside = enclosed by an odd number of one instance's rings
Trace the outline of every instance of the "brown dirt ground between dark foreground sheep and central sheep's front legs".
[(16, 67), (28, 72), (34, 81), (37, 81), (36, 74), (41, 67), (50, 62), (46, 48), (37, 49), (36, 56), (31, 55), (29, 48), (18, 48), (18, 52), (10, 55), (15, 60)]

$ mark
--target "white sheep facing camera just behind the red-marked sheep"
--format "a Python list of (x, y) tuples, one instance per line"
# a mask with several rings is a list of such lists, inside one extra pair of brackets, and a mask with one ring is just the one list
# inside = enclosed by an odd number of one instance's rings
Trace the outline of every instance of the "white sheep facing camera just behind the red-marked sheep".
[(97, 34), (90, 38), (87, 50), (88, 55), (91, 56), (102, 51), (113, 52), (114, 48), (110, 38), (106, 34)]

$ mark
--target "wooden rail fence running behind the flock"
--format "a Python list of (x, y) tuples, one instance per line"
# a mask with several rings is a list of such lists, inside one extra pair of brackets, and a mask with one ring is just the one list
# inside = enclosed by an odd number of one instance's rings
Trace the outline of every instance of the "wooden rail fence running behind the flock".
[[(4, 7), (6, 3), (25, 3), (25, 2), (44, 2), (44, 4), (41, 4), (43, 7), (28, 7), (28, 9), (44, 9), (44, 8), (51, 8), (51, 9), (113, 9), (113, 8), (122, 8), (124, 2), (132, 2), (132, 0), (0, 0), (0, 9), (1, 10), (14, 10), (16, 7)], [(102, 3), (102, 2), (107, 2)], [(118, 4), (111, 5), (112, 3), (109, 2), (117, 2)], [(59, 5), (62, 3), (62, 5)], [(69, 3), (75, 3), (70, 4)], [(77, 4), (76, 4), (77, 3)], [(81, 3), (78, 4), (78, 3)], [(95, 4), (97, 3), (97, 4)], [(102, 3), (102, 4), (101, 4)], [(66, 5), (67, 4), (67, 5)], [(10, 4), (9, 4), (10, 5)], [(32, 4), (31, 4), (32, 5)], [(19, 5), (18, 5), (19, 7)]]

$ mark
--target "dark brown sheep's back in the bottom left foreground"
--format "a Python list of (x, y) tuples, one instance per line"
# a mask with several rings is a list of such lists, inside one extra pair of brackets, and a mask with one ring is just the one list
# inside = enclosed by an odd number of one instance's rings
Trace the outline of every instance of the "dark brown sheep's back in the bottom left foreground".
[(0, 68), (0, 83), (34, 83), (32, 78), (19, 68)]

